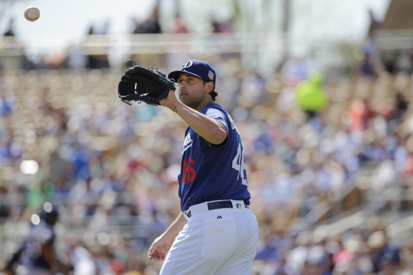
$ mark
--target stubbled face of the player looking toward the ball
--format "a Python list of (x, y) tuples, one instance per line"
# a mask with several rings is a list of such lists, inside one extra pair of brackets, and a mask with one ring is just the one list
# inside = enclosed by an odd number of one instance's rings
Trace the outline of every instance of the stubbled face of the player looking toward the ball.
[(205, 84), (202, 79), (189, 74), (180, 74), (179, 100), (186, 106), (196, 109), (205, 98)]

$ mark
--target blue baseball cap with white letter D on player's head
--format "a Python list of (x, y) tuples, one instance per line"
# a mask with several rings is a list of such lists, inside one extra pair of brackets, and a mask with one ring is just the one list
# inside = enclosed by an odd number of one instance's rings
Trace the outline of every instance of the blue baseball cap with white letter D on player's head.
[(205, 61), (198, 59), (189, 59), (182, 64), (180, 71), (171, 72), (168, 75), (168, 78), (173, 80), (174, 82), (177, 82), (179, 74), (181, 73), (187, 73), (199, 77), (207, 82), (213, 82), (215, 89), (215, 70)]

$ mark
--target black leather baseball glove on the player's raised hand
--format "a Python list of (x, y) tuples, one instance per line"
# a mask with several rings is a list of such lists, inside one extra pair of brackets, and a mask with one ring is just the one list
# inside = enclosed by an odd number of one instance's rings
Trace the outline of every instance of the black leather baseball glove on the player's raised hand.
[(121, 101), (142, 101), (150, 105), (160, 105), (159, 100), (175, 91), (175, 85), (156, 68), (133, 66), (126, 70), (118, 84), (118, 96)]

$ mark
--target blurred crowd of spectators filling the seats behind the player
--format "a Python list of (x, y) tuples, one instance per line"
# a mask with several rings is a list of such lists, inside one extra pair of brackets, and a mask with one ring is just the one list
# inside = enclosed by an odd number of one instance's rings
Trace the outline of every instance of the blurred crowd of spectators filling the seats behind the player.
[[(338, 235), (303, 222), (366, 164), (376, 169), (370, 188), (411, 190), (411, 72), (345, 79), (343, 97), (335, 83), (297, 60), (271, 77), (245, 70), (231, 56), (211, 64), (217, 102), (235, 119), (245, 147), (251, 209), (260, 224), (253, 274), (413, 274), (413, 243), (393, 245), (377, 220)], [(161, 263), (150, 262), (147, 250), (179, 211), (186, 126), (169, 110), (117, 101), (119, 75), (1, 76), (3, 261), (50, 201), (60, 212), (57, 251), (75, 275), (158, 273)], [(352, 94), (363, 83), (372, 85), (370, 94)], [(320, 102), (308, 102), (311, 95)]]

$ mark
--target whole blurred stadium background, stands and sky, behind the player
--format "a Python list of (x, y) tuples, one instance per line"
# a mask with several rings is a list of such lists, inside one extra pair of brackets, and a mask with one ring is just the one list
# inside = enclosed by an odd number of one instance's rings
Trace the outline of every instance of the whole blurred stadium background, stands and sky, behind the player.
[[(24, 19), (29, 5), (36, 22)], [(185, 123), (125, 105), (189, 58), (245, 148), (253, 275), (413, 275), (413, 0), (1, 0), (0, 267), (56, 205), (74, 275), (155, 275)]]

